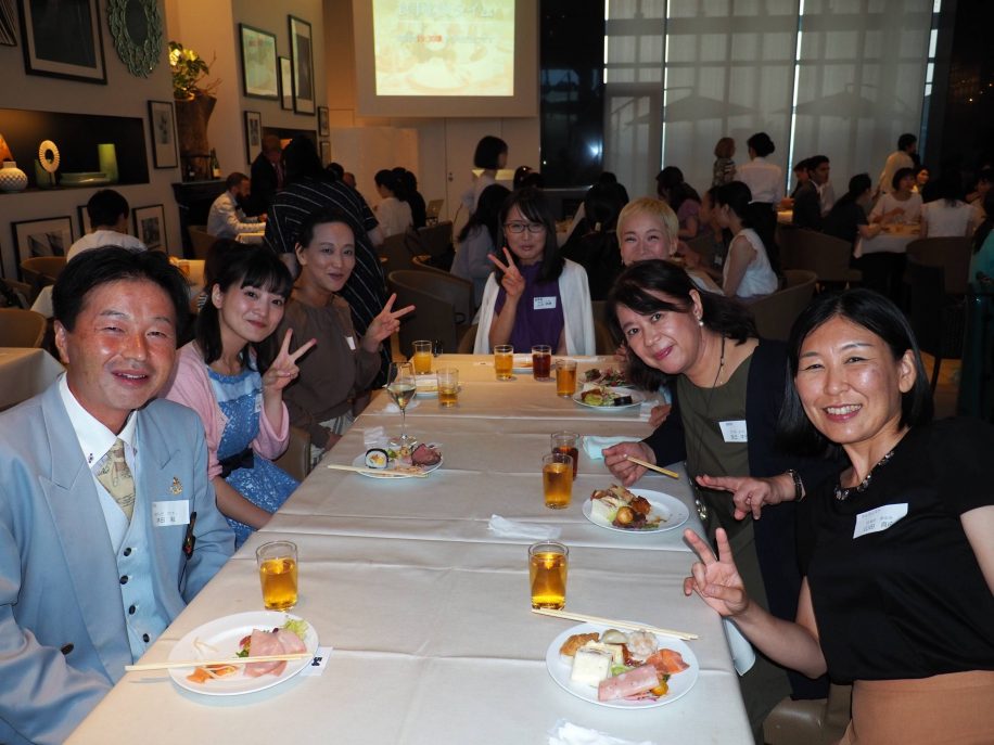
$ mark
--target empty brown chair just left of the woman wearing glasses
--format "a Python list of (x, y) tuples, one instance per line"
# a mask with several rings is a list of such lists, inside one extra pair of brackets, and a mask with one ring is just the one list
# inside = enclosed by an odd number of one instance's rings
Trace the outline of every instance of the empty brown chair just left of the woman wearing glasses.
[(390, 273), (387, 284), (397, 293), (395, 308), (416, 308), (400, 319), (402, 352), (410, 354), (411, 344), (418, 339), (438, 341), (445, 350), (459, 346), (473, 319), (471, 282), (441, 272), (402, 269)]

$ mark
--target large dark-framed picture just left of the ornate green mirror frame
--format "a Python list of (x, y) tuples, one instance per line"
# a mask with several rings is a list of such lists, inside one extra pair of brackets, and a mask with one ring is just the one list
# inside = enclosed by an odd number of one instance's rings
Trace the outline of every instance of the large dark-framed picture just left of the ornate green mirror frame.
[(21, 9), (25, 72), (106, 85), (98, 0), (22, 0)]

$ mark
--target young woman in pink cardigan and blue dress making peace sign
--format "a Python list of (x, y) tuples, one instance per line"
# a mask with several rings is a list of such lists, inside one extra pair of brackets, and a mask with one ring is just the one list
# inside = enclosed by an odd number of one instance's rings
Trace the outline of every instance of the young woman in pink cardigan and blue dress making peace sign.
[(290, 437), (283, 388), (315, 342), (291, 354), (288, 332), (276, 349), (273, 332), (293, 280), (269, 249), (232, 254), (208, 284), (196, 338), (180, 349), (166, 398), (200, 414), (217, 506), (241, 545), (297, 487), (270, 459)]

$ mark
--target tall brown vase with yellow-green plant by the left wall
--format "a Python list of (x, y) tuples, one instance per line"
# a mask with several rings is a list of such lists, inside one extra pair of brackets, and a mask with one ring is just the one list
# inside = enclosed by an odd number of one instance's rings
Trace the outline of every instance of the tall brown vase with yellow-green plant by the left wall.
[(211, 143), (207, 121), (217, 99), (219, 80), (204, 82), (209, 65), (192, 49), (178, 41), (169, 42), (169, 69), (173, 73), (173, 98), (176, 100), (176, 129), (183, 179), (199, 181), (212, 178)]

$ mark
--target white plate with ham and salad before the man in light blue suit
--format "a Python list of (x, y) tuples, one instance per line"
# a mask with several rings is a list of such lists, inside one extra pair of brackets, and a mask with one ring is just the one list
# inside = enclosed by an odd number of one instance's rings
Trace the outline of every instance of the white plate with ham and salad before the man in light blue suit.
[[(279, 631), (275, 632), (277, 629)], [(169, 661), (238, 657), (245, 638), (251, 639), (255, 631), (265, 632), (255, 638), (266, 644), (256, 654), (307, 652), (310, 657), (284, 663), (255, 663), (256, 667), (234, 665), (228, 669), (180, 667), (170, 669), (169, 676), (181, 689), (193, 693), (240, 696), (285, 683), (310, 665), (318, 650), (318, 632), (300, 616), (277, 611), (252, 611), (196, 627), (176, 643), (169, 653)], [(248, 656), (252, 656), (251, 645)]]

